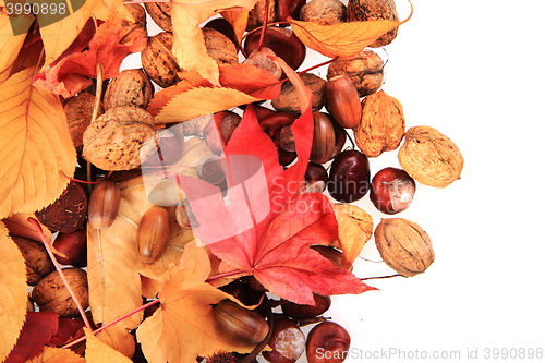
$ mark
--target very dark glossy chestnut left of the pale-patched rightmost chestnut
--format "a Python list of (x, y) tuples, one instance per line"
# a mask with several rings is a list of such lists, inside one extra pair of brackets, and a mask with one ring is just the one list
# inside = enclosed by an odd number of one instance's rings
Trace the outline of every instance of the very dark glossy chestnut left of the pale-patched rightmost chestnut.
[(344, 150), (331, 162), (327, 191), (341, 203), (361, 199), (370, 190), (370, 161), (359, 150)]

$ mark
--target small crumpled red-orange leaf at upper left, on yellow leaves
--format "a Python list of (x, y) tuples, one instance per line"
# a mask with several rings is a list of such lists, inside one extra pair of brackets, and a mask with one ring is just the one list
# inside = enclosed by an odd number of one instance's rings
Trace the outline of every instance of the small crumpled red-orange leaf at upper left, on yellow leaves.
[(104, 78), (114, 77), (123, 59), (144, 50), (147, 45), (145, 37), (121, 44), (122, 31), (121, 19), (112, 14), (98, 27), (88, 50), (70, 53), (55, 66), (36, 74), (34, 86), (69, 98), (93, 84), (92, 78), (97, 77), (97, 64), (102, 65)]

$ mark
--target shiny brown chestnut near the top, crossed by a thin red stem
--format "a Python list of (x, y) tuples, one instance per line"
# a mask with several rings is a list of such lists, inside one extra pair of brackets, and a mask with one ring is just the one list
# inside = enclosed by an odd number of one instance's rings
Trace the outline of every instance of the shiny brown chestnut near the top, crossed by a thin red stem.
[[(244, 52), (250, 55), (259, 45), (261, 32), (251, 33), (244, 40)], [(306, 46), (299, 40), (291, 29), (269, 26), (262, 47), (270, 48), (289, 66), (296, 70), (306, 57)]]

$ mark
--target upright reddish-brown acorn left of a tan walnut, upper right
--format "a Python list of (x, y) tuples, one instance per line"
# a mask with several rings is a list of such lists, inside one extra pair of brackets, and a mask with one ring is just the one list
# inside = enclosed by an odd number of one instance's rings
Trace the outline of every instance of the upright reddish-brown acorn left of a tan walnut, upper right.
[(334, 76), (326, 84), (326, 98), (329, 113), (346, 129), (360, 124), (362, 105), (352, 80), (346, 74)]

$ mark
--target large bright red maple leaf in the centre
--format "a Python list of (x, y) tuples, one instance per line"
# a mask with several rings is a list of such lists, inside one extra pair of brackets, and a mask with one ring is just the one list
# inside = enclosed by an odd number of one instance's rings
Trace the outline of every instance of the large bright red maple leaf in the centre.
[[(299, 78), (294, 72), (293, 77)], [(223, 261), (223, 276), (253, 275), (283, 299), (314, 304), (313, 292), (361, 293), (373, 288), (310, 249), (334, 241), (338, 226), (325, 195), (299, 193), (314, 126), (306, 95), (305, 111), (292, 125), (295, 165), (284, 170), (278, 164), (272, 141), (249, 106), (223, 150), (227, 197), (195, 178), (181, 177), (180, 183), (199, 223), (194, 231)]]

